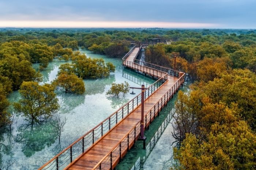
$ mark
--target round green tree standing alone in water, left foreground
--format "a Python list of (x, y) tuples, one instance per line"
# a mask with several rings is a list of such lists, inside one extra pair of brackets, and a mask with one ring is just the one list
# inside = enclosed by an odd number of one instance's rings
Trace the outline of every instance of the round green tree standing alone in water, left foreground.
[(41, 86), (37, 82), (23, 82), (19, 92), (21, 99), (14, 103), (15, 110), (32, 125), (47, 120), (59, 109), (54, 87), (50, 84)]

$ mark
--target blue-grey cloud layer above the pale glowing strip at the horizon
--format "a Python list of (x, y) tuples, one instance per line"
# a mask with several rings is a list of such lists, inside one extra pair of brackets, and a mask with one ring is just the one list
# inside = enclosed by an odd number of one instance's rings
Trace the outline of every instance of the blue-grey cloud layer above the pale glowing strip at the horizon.
[(256, 27), (255, 0), (0, 0), (0, 20), (147, 21)]

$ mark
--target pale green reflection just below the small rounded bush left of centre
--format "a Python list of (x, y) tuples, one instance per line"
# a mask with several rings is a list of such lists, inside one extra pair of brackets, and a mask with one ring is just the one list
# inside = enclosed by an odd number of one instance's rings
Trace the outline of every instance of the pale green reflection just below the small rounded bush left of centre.
[(61, 113), (69, 113), (75, 107), (84, 103), (85, 95), (78, 94), (68, 94), (62, 91), (57, 91), (57, 96), (60, 103), (60, 112)]

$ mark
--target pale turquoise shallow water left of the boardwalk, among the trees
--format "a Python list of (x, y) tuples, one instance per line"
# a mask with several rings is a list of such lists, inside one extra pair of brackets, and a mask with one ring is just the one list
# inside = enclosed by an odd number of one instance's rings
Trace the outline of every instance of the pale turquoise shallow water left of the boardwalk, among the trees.
[[(121, 59), (93, 54), (88, 50), (81, 52), (91, 58), (103, 58), (105, 62), (112, 62), (116, 71), (108, 78), (84, 80), (86, 92), (83, 95), (56, 91), (60, 104), (58, 114), (61, 118), (67, 118), (61, 133), (61, 145), (50, 122), (32, 128), (26, 125), (27, 121), (22, 116), (17, 116), (12, 131), (6, 130), (0, 134), (0, 142), (5, 145), (0, 146), (0, 167), (6, 168), (8, 164), (12, 164), (9, 169), (37, 169), (135, 96), (127, 94), (121, 99), (109, 98), (106, 92), (112, 83), (127, 81), (130, 86), (139, 87), (141, 84), (149, 86), (155, 82), (152, 78), (123, 68)], [(48, 68), (41, 72), (42, 84), (54, 80), (60, 64), (63, 63), (66, 62), (57, 59), (49, 63)], [(38, 64), (33, 64), (33, 67), (38, 69)], [(140, 91), (134, 92), (138, 94)], [(8, 99), (10, 102), (17, 102), (19, 92), (12, 92)], [(10, 160), (13, 163), (8, 163)]]

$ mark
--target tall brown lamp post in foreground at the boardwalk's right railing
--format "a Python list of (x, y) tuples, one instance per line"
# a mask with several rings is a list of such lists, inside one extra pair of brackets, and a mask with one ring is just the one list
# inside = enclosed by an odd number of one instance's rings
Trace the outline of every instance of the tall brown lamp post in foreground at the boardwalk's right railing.
[(143, 149), (146, 149), (147, 137), (144, 137), (144, 92), (147, 88), (145, 88), (144, 84), (141, 85), (141, 88), (139, 87), (130, 87), (130, 88), (141, 89), (141, 120), (140, 120), (140, 137), (138, 140), (143, 141)]

